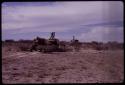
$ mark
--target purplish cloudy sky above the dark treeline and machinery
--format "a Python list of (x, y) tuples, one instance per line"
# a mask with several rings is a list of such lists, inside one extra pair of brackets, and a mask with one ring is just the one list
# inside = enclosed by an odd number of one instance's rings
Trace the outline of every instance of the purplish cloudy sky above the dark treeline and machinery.
[(123, 2), (3, 2), (2, 40), (48, 39), (123, 42)]

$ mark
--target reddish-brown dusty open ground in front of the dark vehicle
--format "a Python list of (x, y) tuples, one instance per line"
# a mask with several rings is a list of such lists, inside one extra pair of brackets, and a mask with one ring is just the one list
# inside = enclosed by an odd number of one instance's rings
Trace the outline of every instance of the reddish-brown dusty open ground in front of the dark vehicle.
[(3, 83), (119, 83), (123, 80), (123, 50), (2, 52)]

